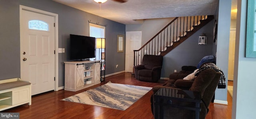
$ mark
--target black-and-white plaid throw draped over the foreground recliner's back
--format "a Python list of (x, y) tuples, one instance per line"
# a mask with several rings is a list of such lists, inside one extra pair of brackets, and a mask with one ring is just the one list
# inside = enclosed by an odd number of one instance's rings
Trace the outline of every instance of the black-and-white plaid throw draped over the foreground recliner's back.
[(218, 66), (216, 66), (214, 63), (207, 63), (204, 64), (201, 68), (199, 68), (199, 70), (195, 73), (195, 76), (198, 76), (198, 74), (200, 74), (200, 72), (202, 72), (203, 70), (206, 70), (208, 68), (214, 69), (216, 72), (220, 72), (222, 74), (222, 76), (220, 77), (220, 81), (218, 84), (218, 88), (226, 88), (226, 78), (224, 76), (224, 73), (222, 72), (222, 70), (220, 68), (218, 68)]

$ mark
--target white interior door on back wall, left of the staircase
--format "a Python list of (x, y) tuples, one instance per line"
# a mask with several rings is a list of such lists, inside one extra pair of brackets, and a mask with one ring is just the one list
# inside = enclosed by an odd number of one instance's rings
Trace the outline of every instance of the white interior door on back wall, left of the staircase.
[(126, 32), (125, 71), (133, 71), (134, 52), (141, 47), (141, 31)]

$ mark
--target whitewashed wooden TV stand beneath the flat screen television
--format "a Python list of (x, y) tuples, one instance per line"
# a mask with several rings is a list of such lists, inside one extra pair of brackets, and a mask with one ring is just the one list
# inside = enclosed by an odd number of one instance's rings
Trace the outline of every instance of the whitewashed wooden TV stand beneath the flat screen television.
[(64, 63), (64, 90), (78, 91), (100, 83), (100, 60)]

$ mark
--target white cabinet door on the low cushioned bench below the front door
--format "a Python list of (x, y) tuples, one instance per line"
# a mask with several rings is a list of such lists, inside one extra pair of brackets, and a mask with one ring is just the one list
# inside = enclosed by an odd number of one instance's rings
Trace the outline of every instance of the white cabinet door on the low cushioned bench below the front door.
[(29, 87), (12, 91), (12, 105), (29, 101)]

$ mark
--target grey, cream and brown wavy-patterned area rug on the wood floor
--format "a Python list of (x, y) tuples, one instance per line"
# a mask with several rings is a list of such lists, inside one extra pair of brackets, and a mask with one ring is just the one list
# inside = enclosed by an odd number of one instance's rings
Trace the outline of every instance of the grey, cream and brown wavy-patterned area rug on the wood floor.
[(149, 92), (151, 87), (115, 84), (108, 82), (97, 88), (62, 99), (76, 103), (126, 110)]

